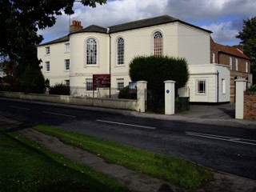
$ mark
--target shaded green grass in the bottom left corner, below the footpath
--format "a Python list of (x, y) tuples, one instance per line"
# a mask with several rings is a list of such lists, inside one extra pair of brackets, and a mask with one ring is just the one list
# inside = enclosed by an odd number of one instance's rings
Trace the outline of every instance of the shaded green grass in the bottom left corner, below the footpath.
[(0, 191), (130, 191), (118, 182), (0, 129)]

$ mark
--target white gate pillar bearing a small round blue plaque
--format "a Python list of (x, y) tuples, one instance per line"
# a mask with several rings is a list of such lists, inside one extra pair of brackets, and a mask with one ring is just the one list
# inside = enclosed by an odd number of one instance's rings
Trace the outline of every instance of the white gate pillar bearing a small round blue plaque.
[(165, 81), (165, 114), (175, 112), (175, 82)]

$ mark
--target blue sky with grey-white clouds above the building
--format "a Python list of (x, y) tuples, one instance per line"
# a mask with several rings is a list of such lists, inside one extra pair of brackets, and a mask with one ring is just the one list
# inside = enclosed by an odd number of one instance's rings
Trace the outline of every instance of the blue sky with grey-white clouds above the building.
[[(256, 16), (255, 0), (108, 0), (96, 8), (74, 2), (74, 14), (57, 16), (56, 24), (39, 30), (43, 42), (69, 34), (70, 21), (80, 21), (83, 28), (90, 25), (114, 26), (144, 18), (168, 14), (183, 22), (213, 32), (214, 42), (238, 45), (235, 36), (242, 31), (243, 21)], [(43, 43), (42, 42), (42, 43)]]

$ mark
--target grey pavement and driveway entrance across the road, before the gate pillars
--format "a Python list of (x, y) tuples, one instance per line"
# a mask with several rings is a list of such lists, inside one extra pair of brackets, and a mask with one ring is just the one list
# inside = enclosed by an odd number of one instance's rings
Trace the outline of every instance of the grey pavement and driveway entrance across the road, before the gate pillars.
[[(78, 106), (79, 107), (79, 106)], [(236, 119), (235, 104), (220, 104), (220, 105), (190, 105), (190, 110), (186, 110), (173, 115), (140, 113), (130, 110), (113, 110), (100, 107), (83, 106), (89, 110), (102, 110), (113, 113), (120, 113), (142, 118), (158, 118), (163, 120), (174, 120), (182, 122), (195, 122), (219, 126), (234, 126), (256, 130), (256, 120)]]

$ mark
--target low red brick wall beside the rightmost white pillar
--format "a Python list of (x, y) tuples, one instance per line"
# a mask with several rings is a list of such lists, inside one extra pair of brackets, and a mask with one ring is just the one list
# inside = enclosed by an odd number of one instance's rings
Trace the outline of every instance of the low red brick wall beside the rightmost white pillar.
[(245, 119), (256, 119), (256, 93), (244, 93)]

